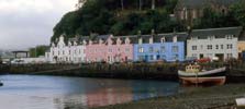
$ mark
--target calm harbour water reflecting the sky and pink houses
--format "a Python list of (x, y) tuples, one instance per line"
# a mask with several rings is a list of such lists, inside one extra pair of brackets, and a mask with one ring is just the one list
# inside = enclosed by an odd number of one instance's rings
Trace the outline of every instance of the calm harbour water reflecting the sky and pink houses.
[(1, 109), (86, 109), (172, 95), (178, 83), (86, 77), (1, 75)]

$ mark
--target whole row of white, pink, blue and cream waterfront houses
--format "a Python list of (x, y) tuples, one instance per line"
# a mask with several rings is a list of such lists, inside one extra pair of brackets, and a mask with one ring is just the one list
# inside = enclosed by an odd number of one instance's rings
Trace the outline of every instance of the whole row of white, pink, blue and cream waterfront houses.
[[(187, 58), (238, 58), (242, 27), (193, 29), (152, 35), (64, 36), (52, 43), (45, 57), (49, 62), (185, 61)], [(241, 45), (243, 46), (243, 45)], [(242, 50), (240, 50), (242, 51)]]

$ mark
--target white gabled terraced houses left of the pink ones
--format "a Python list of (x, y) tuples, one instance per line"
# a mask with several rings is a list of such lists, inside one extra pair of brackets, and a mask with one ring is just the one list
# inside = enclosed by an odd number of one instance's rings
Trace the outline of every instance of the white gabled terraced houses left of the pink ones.
[(52, 44), (49, 51), (45, 53), (46, 59), (51, 63), (80, 63), (85, 61), (86, 46), (79, 45), (76, 40), (65, 44), (64, 36), (59, 37), (58, 43)]

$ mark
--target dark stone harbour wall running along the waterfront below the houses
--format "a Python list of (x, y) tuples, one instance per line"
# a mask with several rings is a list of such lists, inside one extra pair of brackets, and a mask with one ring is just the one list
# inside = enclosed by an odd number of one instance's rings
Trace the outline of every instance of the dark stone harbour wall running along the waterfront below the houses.
[[(1, 74), (35, 74), (125, 80), (178, 81), (178, 70), (186, 63), (90, 63), (90, 64), (12, 64), (0, 65)], [(245, 64), (205, 63), (205, 68), (226, 65), (229, 83), (245, 82)]]

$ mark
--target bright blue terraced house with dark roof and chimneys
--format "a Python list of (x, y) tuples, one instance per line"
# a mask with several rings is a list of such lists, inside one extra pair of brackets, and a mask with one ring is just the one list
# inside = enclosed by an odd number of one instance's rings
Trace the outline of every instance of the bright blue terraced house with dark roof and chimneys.
[(187, 33), (141, 35), (134, 44), (134, 61), (185, 61)]

